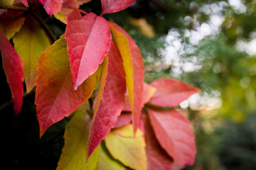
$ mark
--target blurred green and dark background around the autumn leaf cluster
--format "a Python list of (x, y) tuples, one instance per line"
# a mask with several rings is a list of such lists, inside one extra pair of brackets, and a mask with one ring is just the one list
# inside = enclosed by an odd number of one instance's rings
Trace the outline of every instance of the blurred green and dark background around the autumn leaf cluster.
[[(100, 0), (81, 8), (100, 14)], [(64, 33), (63, 23), (42, 14), (57, 38)], [(180, 105), (198, 149), (195, 164), (186, 169), (256, 169), (256, 1), (137, 0), (105, 18), (137, 42), (146, 82), (172, 77), (202, 90)], [(30, 169), (34, 162), (55, 169), (68, 118), (39, 139), (33, 95), (24, 98), (21, 114), (9, 114), (11, 93), (2, 69), (0, 77), (0, 132), (12, 145), (6, 158), (18, 167)]]

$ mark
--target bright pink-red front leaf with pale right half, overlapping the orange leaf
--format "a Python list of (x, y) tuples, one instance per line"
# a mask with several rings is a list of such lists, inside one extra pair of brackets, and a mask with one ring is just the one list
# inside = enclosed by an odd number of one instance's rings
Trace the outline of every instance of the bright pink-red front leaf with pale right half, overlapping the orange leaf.
[(68, 16), (65, 31), (74, 89), (92, 75), (110, 50), (110, 27), (105, 18), (75, 10)]

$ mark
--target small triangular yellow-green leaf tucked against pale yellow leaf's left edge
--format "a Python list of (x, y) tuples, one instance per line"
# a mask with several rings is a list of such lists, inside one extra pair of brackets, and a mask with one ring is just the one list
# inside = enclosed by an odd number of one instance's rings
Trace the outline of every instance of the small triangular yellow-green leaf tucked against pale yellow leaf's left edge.
[(100, 157), (97, 163), (97, 169), (95, 170), (125, 170), (124, 166), (114, 160), (107, 149), (99, 145), (100, 147)]

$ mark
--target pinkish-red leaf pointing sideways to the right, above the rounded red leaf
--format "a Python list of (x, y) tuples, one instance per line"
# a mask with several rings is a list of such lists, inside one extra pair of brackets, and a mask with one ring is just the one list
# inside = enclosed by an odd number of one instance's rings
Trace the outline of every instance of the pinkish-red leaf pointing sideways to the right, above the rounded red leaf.
[(151, 85), (156, 87), (156, 93), (149, 103), (162, 107), (178, 106), (192, 94), (200, 92), (196, 87), (176, 79), (161, 78), (153, 81)]

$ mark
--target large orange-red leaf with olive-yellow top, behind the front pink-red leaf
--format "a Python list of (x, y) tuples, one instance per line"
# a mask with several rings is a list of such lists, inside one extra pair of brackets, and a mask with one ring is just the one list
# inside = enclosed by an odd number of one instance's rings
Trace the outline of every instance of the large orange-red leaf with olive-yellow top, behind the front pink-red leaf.
[(89, 77), (77, 91), (73, 89), (67, 43), (61, 36), (47, 48), (39, 60), (36, 79), (36, 112), (40, 135), (46, 129), (85, 103), (97, 87), (100, 70)]

